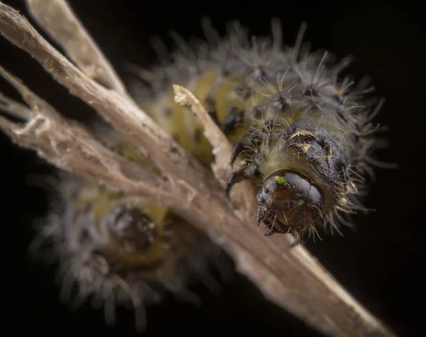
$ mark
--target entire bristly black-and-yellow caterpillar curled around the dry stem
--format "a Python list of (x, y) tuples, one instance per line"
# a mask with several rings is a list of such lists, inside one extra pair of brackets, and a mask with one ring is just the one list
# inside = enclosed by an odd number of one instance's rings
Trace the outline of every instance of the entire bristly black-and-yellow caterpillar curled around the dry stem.
[[(232, 172), (225, 192), (244, 179), (253, 182), (257, 222), (266, 225), (266, 235), (291, 233), (298, 243), (317, 228), (340, 231), (344, 214), (365, 210), (356, 196), (365, 193), (371, 173), (378, 146), (378, 127), (371, 121), (381, 104), (364, 98), (371, 91), (364, 82), (354, 87), (349, 79), (340, 81), (347, 59), (329, 65), (329, 53), (303, 48), (305, 26), (288, 48), (277, 21), (273, 38), (251, 38), (239, 23), (219, 38), (209, 21), (203, 24), (207, 43), (192, 48), (177, 38), (180, 50), (173, 60), (163, 55), (163, 65), (139, 73), (142, 85), (131, 88), (136, 101), (208, 167), (212, 149), (187, 107), (175, 103), (171, 84), (200, 99), (234, 145), (230, 164), (238, 157), (248, 163)], [(97, 136), (149, 165), (124, 136), (104, 129)], [(33, 247), (50, 246), (65, 297), (77, 285), (75, 301), (101, 302), (109, 323), (116, 304), (131, 303), (143, 329), (144, 305), (166, 291), (195, 300), (187, 289), (190, 278), (212, 284), (211, 261), (226, 269), (219, 262), (222, 250), (161, 204), (87, 177), (60, 175), (57, 187), (60, 201)]]

